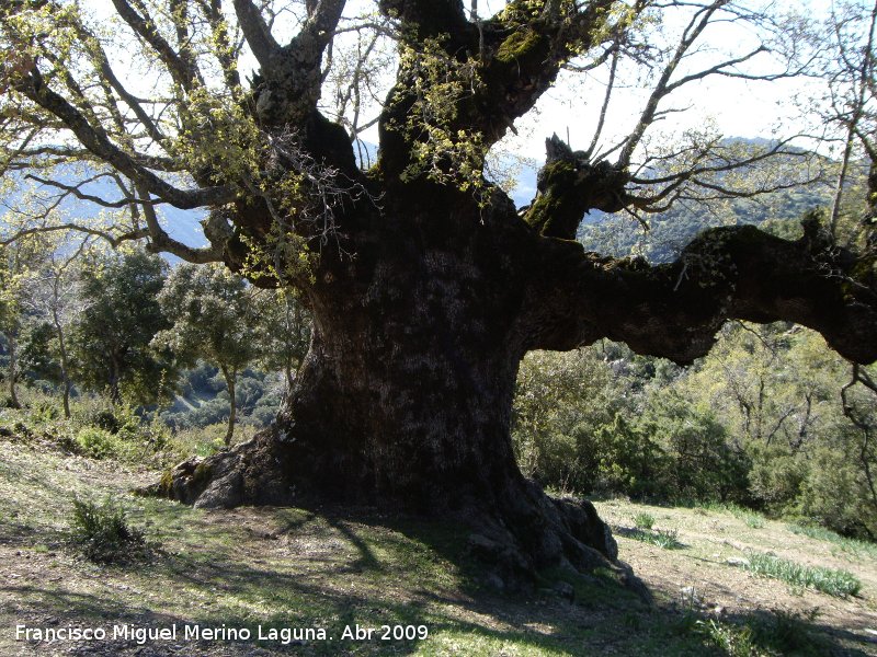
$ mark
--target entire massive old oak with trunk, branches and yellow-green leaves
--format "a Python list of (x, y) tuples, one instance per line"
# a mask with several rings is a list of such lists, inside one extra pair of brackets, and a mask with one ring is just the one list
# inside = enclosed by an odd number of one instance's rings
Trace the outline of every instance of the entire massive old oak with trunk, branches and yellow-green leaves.
[[(511, 0), (480, 18), (462, 0), (380, 0), (353, 23), (344, 4), (306, 0), (280, 28), (284, 14), (252, 0), (112, 0), (112, 22), (75, 2), (2, 3), (4, 171), (127, 211), (109, 227), (57, 219), (19, 234), (145, 240), (255, 285), (295, 286), (312, 313), (310, 350), (276, 424), (182, 464), (167, 494), (213, 507), (334, 499), (453, 515), (509, 577), (583, 567), (615, 557), (608, 531), (591, 506), (548, 498), (514, 462), (510, 411), (528, 350), (608, 337), (690, 362), (736, 318), (798, 322), (852, 360), (877, 357), (874, 256), (834, 246), (817, 221), (797, 241), (714, 229), (661, 266), (574, 240), (590, 210), (640, 215), (732, 194), (717, 174), (781, 152), (784, 142), (734, 159), (719, 141), (683, 143), (637, 164), (664, 96), (706, 76), (751, 77), (743, 67), (763, 46), (685, 68), (709, 21), (752, 18), (744, 8)], [(674, 48), (637, 42), (676, 5), (687, 22)], [(348, 56), (346, 113), (321, 110), (327, 80), (344, 91), (332, 70), (355, 30), (398, 44), (366, 170), (350, 130), (365, 123), (374, 39)], [(604, 66), (612, 89), (625, 57), (664, 62), (630, 134), (602, 151), (596, 138), (584, 151), (549, 139), (538, 194), (516, 209), (483, 176), (490, 148), (563, 67)], [(603, 106), (597, 134), (608, 100), (589, 99)], [(167, 206), (204, 208), (207, 245), (174, 240), (160, 221)]]

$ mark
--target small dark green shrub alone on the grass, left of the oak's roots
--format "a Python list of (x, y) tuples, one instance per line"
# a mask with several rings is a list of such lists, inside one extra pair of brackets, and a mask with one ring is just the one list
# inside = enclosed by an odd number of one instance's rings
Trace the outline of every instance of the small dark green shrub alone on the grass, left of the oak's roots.
[(70, 543), (89, 561), (124, 563), (144, 557), (144, 534), (128, 526), (125, 512), (109, 499), (102, 505), (73, 499)]

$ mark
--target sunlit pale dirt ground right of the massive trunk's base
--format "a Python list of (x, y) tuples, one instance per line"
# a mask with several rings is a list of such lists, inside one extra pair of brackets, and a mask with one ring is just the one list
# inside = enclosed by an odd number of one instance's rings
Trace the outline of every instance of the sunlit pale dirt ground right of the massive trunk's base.
[[(874, 554), (844, 551), (835, 544), (796, 534), (785, 522), (759, 519), (749, 527), (731, 512), (667, 508), (611, 500), (596, 504), (604, 520), (633, 527), (637, 514), (656, 518), (654, 528), (675, 531), (681, 550), (617, 537), (619, 554), (648, 587), (664, 599), (684, 604), (691, 597), (718, 615), (781, 610), (815, 623), (836, 637), (853, 639), (867, 654), (877, 654), (877, 560)], [(617, 535), (617, 532), (616, 532)], [(856, 597), (835, 598), (795, 589), (775, 579), (753, 577), (728, 560), (750, 551), (774, 554), (796, 563), (853, 573), (862, 581)]]

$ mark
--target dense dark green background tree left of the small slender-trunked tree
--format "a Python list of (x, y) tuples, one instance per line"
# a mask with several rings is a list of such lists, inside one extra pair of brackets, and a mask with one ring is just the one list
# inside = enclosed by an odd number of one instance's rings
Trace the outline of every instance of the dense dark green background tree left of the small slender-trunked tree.
[(158, 293), (168, 265), (141, 250), (106, 253), (82, 270), (86, 307), (76, 321), (71, 350), (78, 380), (91, 390), (110, 393), (114, 404), (127, 394), (132, 401), (159, 399), (158, 383), (172, 380), (170, 354), (150, 342), (169, 325)]

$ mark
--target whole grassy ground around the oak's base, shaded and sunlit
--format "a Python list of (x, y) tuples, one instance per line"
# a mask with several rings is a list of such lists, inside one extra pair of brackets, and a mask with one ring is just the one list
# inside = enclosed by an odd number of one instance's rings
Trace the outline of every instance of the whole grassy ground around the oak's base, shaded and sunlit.
[[(597, 504), (622, 560), (652, 591), (649, 606), (600, 573), (546, 573), (534, 593), (499, 593), (467, 561), (458, 527), (362, 509), (203, 511), (129, 493), (158, 476), (0, 438), (0, 655), (877, 655), (875, 554), (733, 510)], [(115, 500), (153, 542), (151, 557), (98, 566), (78, 556), (65, 544), (75, 495)], [(636, 528), (641, 514), (653, 527)], [(637, 531), (672, 533), (675, 544)], [(848, 570), (861, 591), (836, 598), (729, 565), (753, 551)], [(178, 637), (16, 642), (18, 624), (110, 634), (175, 624)], [(186, 639), (195, 624), (252, 636)], [(260, 625), (323, 629), (327, 638), (260, 641)], [(342, 638), (357, 625), (376, 632)], [(381, 625), (415, 637), (381, 641)]]

